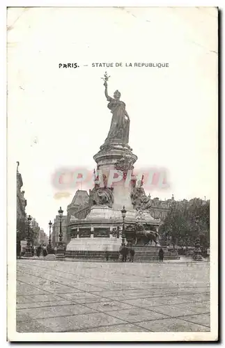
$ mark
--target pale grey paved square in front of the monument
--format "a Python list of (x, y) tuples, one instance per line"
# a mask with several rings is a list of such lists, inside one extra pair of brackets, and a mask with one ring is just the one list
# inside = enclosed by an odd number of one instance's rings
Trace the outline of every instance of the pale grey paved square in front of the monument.
[(17, 260), (17, 331), (210, 331), (209, 269), (208, 262)]

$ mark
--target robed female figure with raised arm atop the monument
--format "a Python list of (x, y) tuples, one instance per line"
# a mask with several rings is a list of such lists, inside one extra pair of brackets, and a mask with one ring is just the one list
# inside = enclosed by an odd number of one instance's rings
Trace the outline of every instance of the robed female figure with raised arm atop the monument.
[(130, 130), (130, 118), (125, 110), (125, 103), (121, 102), (120, 97), (121, 93), (116, 90), (114, 92), (114, 98), (109, 97), (107, 90), (107, 80), (104, 80), (104, 94), (109, 101), (107, 105), (113, 114), (111, 118), (111, 126), (109, 129), (109, 134), (105, 143), (112, 139), (118, 139), (124, 144), (129, 143), (129, 130)]

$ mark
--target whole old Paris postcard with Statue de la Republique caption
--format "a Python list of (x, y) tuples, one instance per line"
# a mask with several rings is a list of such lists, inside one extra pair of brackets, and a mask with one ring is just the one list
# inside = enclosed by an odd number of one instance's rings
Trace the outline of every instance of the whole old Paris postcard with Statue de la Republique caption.
[(217, 340), (218, 17), (8, 8), (8, 340)]

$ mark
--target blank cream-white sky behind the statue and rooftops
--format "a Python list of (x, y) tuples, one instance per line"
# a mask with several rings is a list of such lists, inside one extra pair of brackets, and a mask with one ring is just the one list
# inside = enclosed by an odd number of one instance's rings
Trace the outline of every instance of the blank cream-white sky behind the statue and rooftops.
[[(123, 66), (92, 67), (109, 62)], [(169, 67), (125, 67), (134, 62)], [(93, 171), (109, 132), (105, 70), (109, 95), (120, 90), (130, 116), (135, 166), (166, 168), (169, 188), (150, 194), (210, 199), (215, 190), (215, 8), (9, 8), (8, 171), (20, 161), (26, 213), (45, 232), (75, 195), (69, 189), (56, 199), (52, 175), (62, 167)]]

